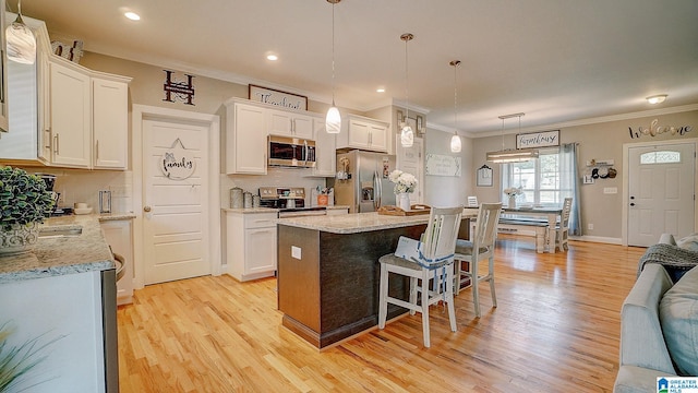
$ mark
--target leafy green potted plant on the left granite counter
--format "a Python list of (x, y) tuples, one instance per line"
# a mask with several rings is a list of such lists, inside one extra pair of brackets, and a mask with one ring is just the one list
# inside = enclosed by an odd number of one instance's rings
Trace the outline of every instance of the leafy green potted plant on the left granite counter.
[(38, 240), (38, 224), (51, 212), (53, 199), (36, 175), (0, 168), (0, 254), (28, 251)]

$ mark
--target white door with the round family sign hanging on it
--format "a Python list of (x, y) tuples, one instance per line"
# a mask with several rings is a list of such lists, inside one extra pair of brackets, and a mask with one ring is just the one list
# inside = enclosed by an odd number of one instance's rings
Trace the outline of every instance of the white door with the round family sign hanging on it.
[[(146, 285), (212, 273), (207, 213), (208, 138), (208, 128), (204, 124), (177, 119), (143, 120)], [(174, 156), (177, 162), (193, 157), (193, 170), (186, 175), (166, 176), (164, 159), (167, 154)]]

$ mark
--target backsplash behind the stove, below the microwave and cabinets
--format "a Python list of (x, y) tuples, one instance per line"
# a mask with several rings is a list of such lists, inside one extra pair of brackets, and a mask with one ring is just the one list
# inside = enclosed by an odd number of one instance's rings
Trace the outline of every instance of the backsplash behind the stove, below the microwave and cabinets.
[(310, 205), (310, 190), (320, 186), (325, 187), (325, 178), (309, 177), (312, 169), (273, 168), (267, 169), (266, 176), (258, 175), (220, 175), (220, 204), (230, 207), (230, 189), (240, 187), (244, 191), (256, 194), (260, 187), (303, 187), (305, 189), (305, 204)]

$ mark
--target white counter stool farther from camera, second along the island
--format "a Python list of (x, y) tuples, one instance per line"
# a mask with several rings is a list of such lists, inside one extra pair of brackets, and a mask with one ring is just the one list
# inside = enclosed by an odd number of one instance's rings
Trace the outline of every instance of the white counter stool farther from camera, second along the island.
[[(497, 236), (497, 225), (502, 214), (502, 203), (483, 203), (478, 210), (478, 219), (472, 241), (458, 239), (456, 241), (456, 283), (460, 293), (461, 276), (470, 278), (472, 287), (472, 302), (476, 308), (476, 315), (480, 318), (480, 282), (490, 282), (490, 293), (492, 294), (492, 307), (497, 307), (497, 298), (494, 291), (494, 246)], [(488, 259), (488, 274), (479, 275), (479, 262)], [(464, 262), (467, 269), (464, 270)]]

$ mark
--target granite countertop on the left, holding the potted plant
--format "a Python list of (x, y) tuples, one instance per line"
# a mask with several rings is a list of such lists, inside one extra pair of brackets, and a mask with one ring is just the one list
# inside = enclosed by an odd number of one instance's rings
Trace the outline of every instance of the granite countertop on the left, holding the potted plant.
[[(115, 269), (111, 251), (99, 223), (131, 219), (133, 213), (87, 214), (51, 217), (41, 224), (40, 237), (31, 252), (0, 257), (0, 284)], [(82, 228), (75, 236), (50, 237), (50, 231)]]

